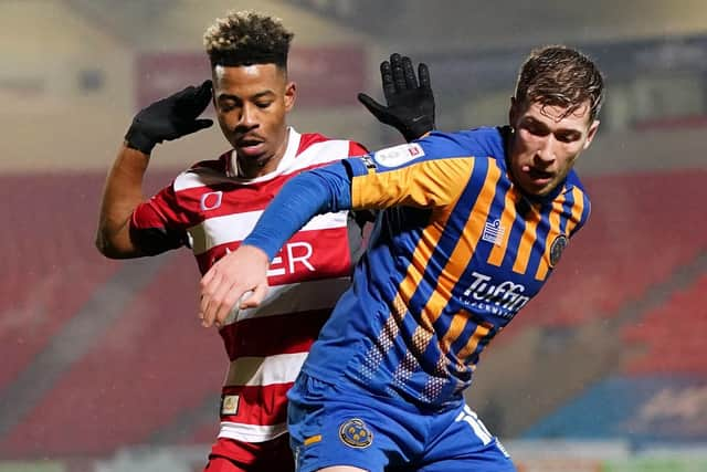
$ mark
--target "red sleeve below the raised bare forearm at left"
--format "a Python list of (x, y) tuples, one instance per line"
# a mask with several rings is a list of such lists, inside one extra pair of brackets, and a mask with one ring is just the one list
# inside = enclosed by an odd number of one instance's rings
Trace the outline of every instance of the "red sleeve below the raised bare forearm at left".
[(143, 253), (157, 255), (189, 245), (172, 186), (138, 204), (130, 218), (130, 240)]

